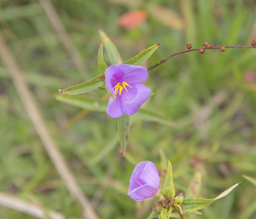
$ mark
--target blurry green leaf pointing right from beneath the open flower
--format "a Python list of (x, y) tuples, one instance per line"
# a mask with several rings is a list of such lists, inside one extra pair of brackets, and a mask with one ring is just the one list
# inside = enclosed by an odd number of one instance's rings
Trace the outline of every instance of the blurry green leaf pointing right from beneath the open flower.
[(160, 116), (159, 114), (153, 111), (150, 111), (148, 109), (140, 108), (135, 114), (135, 116), (138, 116), (145, 121), (158, 122), (158, 123), (162, 123), (163, 125), (167, 125), (169, 127), (177, 127), (177, 124), (175, 122), (172, 122), (171, 120), (168, 120), (163, 116)]

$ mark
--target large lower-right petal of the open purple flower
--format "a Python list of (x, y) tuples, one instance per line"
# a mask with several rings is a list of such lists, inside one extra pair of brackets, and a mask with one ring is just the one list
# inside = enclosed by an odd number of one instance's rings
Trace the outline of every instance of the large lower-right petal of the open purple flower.
[(138, 111), (141, 105), (148, 100), (151, 90), (141, 83), (126, 87), (126, 91), (121, 94), (121, 109), (123, 113), (132, 115)]

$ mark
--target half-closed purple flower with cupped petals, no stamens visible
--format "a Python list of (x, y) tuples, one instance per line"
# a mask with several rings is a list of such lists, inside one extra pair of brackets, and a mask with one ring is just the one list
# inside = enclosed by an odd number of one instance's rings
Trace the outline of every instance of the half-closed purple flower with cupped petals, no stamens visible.
[(144, 201), (157, 195), (160, 179), (155, 164), (143, 161), (133, 170), (128, 194), (135, 201)]

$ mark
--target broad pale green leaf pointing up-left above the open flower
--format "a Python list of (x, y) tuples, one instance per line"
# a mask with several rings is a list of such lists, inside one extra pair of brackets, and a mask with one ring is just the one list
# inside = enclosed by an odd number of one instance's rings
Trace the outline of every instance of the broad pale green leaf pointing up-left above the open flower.
[(118, 50), (116, 49), (110, 38), (108, 38), (108, 36), (102, 30), (99, 30), (99, 35), (101, 36), (101, 40), (103, 41), (104, 46), (107, 49), (107, 54), (110, 58), (111, 63), (121, 64), (121, 56), (119, 55)]

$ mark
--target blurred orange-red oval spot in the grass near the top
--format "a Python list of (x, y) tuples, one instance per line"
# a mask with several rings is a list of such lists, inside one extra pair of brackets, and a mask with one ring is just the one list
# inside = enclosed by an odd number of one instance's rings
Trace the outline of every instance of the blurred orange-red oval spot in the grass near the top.
[(118, 25), (124, 29), (130, 30), (138, 27), (148, 17), (148, 14), (143, 10), (124, 13), (118, 19)]

